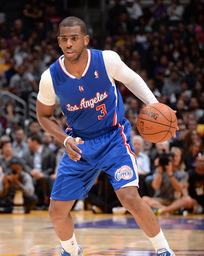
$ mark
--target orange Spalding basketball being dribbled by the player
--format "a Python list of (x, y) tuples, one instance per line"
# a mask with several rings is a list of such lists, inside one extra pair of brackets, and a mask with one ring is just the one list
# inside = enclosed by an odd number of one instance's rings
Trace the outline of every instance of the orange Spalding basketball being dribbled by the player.
[(139, 134), (147, 141), (153, 143), (168, 141), (177, 128), (176, 114), (165, 104), (149, 104), (139, 112), (137, 128)]

